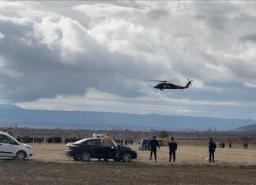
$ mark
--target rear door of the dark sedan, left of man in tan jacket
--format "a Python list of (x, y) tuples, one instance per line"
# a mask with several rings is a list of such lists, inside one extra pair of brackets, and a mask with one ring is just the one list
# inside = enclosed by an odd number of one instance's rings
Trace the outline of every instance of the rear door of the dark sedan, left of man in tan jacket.
[(92, 139), (87, 145), (93, 158), (104, 158), (104, 146), (101, 145), (100, 139)]

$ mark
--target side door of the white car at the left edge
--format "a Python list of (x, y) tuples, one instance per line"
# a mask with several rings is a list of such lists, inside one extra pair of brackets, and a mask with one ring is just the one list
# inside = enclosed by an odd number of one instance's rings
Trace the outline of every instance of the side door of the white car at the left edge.
[(7, 135), (0, 135), (0, 156), (13, 157), (16, 155), (18, 143)]

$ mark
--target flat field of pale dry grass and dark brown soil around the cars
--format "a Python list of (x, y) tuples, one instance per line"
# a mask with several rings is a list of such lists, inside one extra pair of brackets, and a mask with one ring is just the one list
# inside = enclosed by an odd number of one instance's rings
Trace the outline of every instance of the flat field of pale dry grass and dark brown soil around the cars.
[(26, 161), (0, 159), (0, 184), (256, 184), (256, 147), (216, 150), (209, 164), (207, 146), (179, 145), (177, 161), (168, 162), (161, 147), (158, 161), (148, 151), (137, 150), (130, 163), (73, 161), (64, 144), (32, 144), (35, 156)]

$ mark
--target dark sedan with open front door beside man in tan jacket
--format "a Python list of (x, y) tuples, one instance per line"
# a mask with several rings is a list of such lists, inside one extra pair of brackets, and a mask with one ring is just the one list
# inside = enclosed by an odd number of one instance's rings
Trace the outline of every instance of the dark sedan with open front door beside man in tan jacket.
[[(90, 161), (92, 158), (104, 158), (104, 146), (100, 138), (81, 139), (66, 144), (66, 156), (73, 157), (75, 161)], [(114, 161), (130, 162), (137, 158), (137, 153), (129, 147), (117, 145), (111, 147), (110, 157)]]

